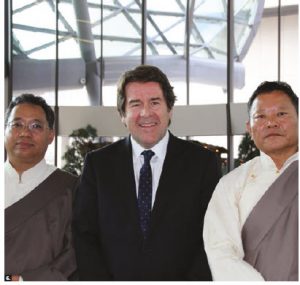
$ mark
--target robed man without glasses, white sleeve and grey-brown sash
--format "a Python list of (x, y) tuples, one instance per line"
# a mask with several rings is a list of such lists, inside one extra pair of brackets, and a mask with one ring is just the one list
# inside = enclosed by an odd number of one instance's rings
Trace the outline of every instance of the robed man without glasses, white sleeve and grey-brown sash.
[[(213, 279), (298, 280), (298, 98), (286, 83), (263, 82), (248, 111), (261, 155), (225, 175), (208, 205), (204, 243)], [(276, 191), (290, 200), (274, 221), (283, 200), (271, 201)], [(262, 234), (263, 246), (249, 245)]]

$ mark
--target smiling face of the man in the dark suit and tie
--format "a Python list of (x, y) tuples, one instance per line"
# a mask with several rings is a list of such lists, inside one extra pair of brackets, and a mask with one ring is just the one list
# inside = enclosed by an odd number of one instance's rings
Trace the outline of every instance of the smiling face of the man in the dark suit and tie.
[(122, 122), (141, 146), (153, 147), (166, 134), (172, 117), (159, 83), (130, 82), (125, 94)]

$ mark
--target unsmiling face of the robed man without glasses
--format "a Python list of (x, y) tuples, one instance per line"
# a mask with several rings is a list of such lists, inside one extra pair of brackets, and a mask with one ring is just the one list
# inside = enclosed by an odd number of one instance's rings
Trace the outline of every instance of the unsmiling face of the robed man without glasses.
[(271, 157), (289, 157), (298, 150), (297, 112), (282, 91), (258, 95), (247, 128), (256, 146)]

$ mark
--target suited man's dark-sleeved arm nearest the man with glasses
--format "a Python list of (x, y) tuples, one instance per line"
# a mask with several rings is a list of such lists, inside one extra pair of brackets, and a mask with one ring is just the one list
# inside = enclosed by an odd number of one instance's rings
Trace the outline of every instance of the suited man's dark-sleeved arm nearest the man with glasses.
[(80, 280), (110, 280), (100, 240), (97, 177), (87, 155), (74, 208), (74, 241)]

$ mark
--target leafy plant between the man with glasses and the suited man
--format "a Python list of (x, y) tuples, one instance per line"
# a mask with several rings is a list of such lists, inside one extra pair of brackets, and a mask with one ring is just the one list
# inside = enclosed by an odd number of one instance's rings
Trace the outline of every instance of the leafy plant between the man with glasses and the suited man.
[(107, 142), (96, 142), (97, 137), (97, 130), (91, 125), (74, 130), (69, 135), (71, 144), (67, 147), (66, 152), (62, 156), (62, 159), (66, 162), (63, 169), (75, 175), (80, 175), (85, 155), (89, 151), (109, 144)]

